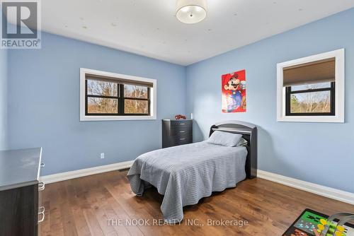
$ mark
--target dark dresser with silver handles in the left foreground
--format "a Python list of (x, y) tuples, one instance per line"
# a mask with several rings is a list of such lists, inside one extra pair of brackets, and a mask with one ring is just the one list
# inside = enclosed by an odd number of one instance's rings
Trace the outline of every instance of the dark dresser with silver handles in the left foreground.
[(0, 235), (37, 236), (45, 218), (38, 182), (42, 148), (0, 151)]

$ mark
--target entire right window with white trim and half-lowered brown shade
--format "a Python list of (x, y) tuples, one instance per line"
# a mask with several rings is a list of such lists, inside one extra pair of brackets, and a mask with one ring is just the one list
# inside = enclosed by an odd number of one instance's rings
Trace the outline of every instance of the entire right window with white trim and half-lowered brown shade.
[(344, 122), (344, 49), (278, 64), (280, 122)]

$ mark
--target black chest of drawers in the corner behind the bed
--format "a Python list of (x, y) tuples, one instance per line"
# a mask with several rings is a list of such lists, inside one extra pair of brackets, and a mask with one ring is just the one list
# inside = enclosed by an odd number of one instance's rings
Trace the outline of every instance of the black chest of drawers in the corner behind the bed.
[(163, 119), (162, 148), (193, 143), (192, 119)]

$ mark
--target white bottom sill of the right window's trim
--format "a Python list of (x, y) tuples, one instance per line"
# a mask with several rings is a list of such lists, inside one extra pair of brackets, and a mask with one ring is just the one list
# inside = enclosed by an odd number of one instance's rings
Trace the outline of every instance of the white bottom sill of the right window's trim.
[(277, 119), (278, 122), (324, 122), (324, 123), (344, 123), (344, 117), (339, 116), (281, 116)]

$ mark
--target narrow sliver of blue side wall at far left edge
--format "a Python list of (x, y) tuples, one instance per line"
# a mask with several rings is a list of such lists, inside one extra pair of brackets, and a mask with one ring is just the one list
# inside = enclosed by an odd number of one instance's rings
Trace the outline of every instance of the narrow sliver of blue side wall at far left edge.
[(8, 148), (7, 50), (0, 49), (0, 150)]

